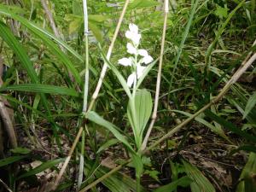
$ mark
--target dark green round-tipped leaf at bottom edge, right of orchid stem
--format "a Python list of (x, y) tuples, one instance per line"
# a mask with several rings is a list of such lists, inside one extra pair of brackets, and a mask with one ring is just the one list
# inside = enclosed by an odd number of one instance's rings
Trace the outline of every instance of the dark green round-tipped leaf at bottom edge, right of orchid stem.
[(181, 178), (178, 178), (176, 181), (173, 181), (172, 183), (166, 184), (159, 189), (154, 190), (154, 192), (172, 192), (177, 189), (178, 186), (186, 188), (189, 186), (189, 184), (192, 182), (192, 179), (188, 176), (184, 176)]

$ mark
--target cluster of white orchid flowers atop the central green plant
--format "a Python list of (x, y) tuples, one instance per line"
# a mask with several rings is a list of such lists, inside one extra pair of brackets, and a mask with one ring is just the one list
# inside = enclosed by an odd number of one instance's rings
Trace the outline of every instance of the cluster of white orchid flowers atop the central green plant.
[[(119, 64), (125, 67), (132, 67), (132, 73), (127, 79), (127, 84), (131, 87), (131, 85), (135, 84), (136, 80), (140, 79), (143, 75), (143, 71), (146, 67), (142, 66), (142, 64), (148, 65), (148, 63), (153, 61), (153, 58), (148, 55), (147, 50), (138, 49), (142, 35), (138, 33), (137, 25), (131, 23), (129, 25), (129, 31), (125, 32), (125, 37), (131, 39), (131, 43), (128, 43), (126, 48), (127, 52), (133, 56), (120, 59)], [(142, 57), (139, 61), (137, 61), (138, 55)]]

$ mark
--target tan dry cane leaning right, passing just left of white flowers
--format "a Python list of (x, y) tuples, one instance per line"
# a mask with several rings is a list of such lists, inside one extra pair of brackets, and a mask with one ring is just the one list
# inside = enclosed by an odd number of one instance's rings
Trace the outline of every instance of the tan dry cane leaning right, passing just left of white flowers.
[[(119, 34), (119, 29), (120, 29), (120, 26), (121, 26), (122, 21), (123, 21), (123, 19), (124, 19), (124, 16), (125, 16), (125, 12), (126, 12), (128, 3), (129, 3), (129, 0), (126, 0), (126, 1), (125, 1), (125, 5), (124, 5), (123, 10), (122, 10), (122, 13), (121, 13), (121, 15), (120, 15), (120, 17), (119, 17), (118, 25), (116, 26), (115, 32), (114, 32), (114, 34), (113, 34), (113, 38), (112, 38), (111, 44), (110, 44), (109, 49), (108, 49), (108, 55), (107, 55), (107, 59), (108, 59), (108, 60), (110, 59), (110, 56), (111, 56), (111, 54), (112, 54), (113, 45), (114, 45), (115, 40), (116, 40), (116, 38), (117, 38), (117, 36), (118, 36), (118, 34)], [(96, 86), (96, 90), (95, 90), (95, 92), (94, 92), (94, 94), (93, 94), (93, 96), (92, 96), (92, 100), (91, 100), (91, 102), (90, 102), (90, 106), (89, 106), (89, 108), (87, 109), (87, 111), (90, 111), (91, 108), (92, 108), (93, 105), (94, 105), (94, 102), (95, 102), (95, 100), (96, 100), (96, 98), (97, 98), (97, 96), (98, 96), (99, 90), (101, 89), (102, 81), (103, 81), (103, 79), (104, 79), (104, 77), (105, 77), (105, 74), (106, 74), (106, 72), (107, 72), (107, 68), (108, 68), (107, 64), (104, 63), (104, 66), (102, 67), (102, 73), (101, 73), (100, 79), (99, 79), (99, 81), (98, 81), (98, 84), (97, 84), (97, 86)], [(76, 148), (77, 144), (79, 143), (79, 138), (81, 137), (81, 134), (82, 134), (82, 132), (83, 132), (83, 129), (84, 129), (83, 127), (80, 127), (80, 128), (79, 128), (79, 132), (78, 132), (78, 134), (77, 134), (77, 136), (76, 136), (76, 138), (75, 138), (75, 140), (74, 140), (74, 142), (73, 142), (72, 148), (70, 149), (70, 151), (69, 151), (69, 153), (68, 153), (68, 155), (67, 155), (67, 158), (66, 158), (66, 160), (65, 160), (65, 162), (64, 162), (64, 164), (63, 164), (63, 166), (61, 167), (61, 171), (59, 172), (58, 176), (56, 177), (55, 183), (54, 183), (53, 187), (51, 188), (51, 190), (56, 189), (56, 187), (58, 186), (58, 183), (61, 181), (61, 177), (62, 177), (63, 173), (65, 172), (65, 170), (66, 170), (66, 168), (67, 168), (68, 162), (69, 162), (69, 160), (71, 159), (71, 156), (72, 156), (72, 154), (73, 154), (73, 151), (74, 151), (74, 149)]]

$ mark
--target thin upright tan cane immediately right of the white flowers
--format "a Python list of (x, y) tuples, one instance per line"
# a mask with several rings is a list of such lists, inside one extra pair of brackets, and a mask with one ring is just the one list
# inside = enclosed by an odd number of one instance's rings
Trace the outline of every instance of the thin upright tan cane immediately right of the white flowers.
[(161, 42), (161, 49), (160, 49), (160, 61), (159, 61), (159, 68), (157, 73), (155, 96), (154, 96), (154, 111), (152, 114), (151, 123), (148, 127), (147, 134), (143, 140), (143, 145), (141, 150), (144, 150), (147, 147), (148, 138), (150, 136), (150, 133), (154, 126), (155, 119), (157, 117), (157, 108), (158, 108), (158, 102), (159, 102), (160, 83), (161, 83), (161, 72), (162, 72), (163, 56), (164, 56), (165, 42), (166, 42), (166, 26), (167, 26), (168, 13), (169, 13), (169, 1), (166, 0), (165, 1), (165, 19), (164, 19), (163, 35), (162, 35), (162, 42)]

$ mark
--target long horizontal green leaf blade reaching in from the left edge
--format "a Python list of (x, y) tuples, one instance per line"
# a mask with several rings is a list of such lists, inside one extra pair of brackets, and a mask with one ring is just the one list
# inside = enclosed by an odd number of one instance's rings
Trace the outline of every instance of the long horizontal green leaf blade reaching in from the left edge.
[(49, 84), (15, 84), (0, 88), (0, 91), (3, 90), (20, 90), (36, 93), (49, 93), (55, 95), (79, 96), (79, 93), (76, 90)]

